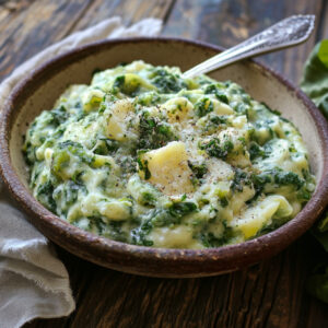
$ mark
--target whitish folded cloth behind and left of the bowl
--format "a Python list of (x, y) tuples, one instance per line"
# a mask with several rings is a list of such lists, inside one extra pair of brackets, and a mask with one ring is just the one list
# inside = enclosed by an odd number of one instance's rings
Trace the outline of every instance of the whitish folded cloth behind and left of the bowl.
[[(161, 26), (160, 20), (145, 19), (125, 27), (120, 17), (112, 17), (77, 32), (17, 67), (0, 85), (0, 104), (22, 77), (56, 55), (104, 38), (157, 35)], [(74, 311), (65, 266), (49, 241), (16, 209), (1, 180), (0, 226), (0, 327), (21, 327), (36, 317), (56, 318)]]

